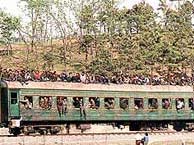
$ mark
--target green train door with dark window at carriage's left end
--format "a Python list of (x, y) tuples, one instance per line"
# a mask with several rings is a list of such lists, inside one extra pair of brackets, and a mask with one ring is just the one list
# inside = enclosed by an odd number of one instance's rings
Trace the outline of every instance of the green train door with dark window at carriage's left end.
[(10, 116), (19, 116), (19, 96), (17, 91), (10, 91)]

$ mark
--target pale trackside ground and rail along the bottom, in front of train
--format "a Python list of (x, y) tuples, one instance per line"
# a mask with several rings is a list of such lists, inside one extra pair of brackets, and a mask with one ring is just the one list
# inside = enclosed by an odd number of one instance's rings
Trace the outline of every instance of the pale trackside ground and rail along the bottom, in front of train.
[[(137, 135), (143, 137), (148, 132), (150, 143), (154, 142), (174, 142), (192, 141), (194, 142), (194, 132), (182, 131), (132, 131), (132, 132), (112, 132), (112, 133), (71, 133), (56, 135), (0, 135), (0, 145), (135, 145)], [(176, 143), (177, 144), (177, 143)], [(173, 144), (174, 145), (174, 144)]]

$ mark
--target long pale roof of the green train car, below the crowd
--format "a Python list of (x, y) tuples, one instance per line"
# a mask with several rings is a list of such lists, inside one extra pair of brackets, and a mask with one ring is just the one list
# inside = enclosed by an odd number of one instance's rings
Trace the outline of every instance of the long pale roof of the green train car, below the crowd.
[(142, 92), (193, 92), (192, 86), (133, 85), (133, 84), (83, 84), (67, 82), (7, 82), (10, 89), (58, 89), (58, 90), (101, 90), (101, 91), (142, 91)]

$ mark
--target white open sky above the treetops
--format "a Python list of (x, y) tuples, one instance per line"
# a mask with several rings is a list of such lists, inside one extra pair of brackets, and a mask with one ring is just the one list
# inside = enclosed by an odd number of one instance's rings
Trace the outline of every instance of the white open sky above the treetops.
[[(120, 0), (121, 7), (131, 8), (134, 4), (137, 4), (143, 0)], [(154, 9), (157, 9), (159, 0), (144, 0), (148, 2)], [(168, 0), (167, 0), (168, 1)], [(7, 12), (15, 15), (15, 16), (22, 16), (23, 13), (18, 8), (19, 0), (0, 0), (0, 8), (6, 10)], [(169, 6), (173, 6), (173, 2), (168, 2)]]

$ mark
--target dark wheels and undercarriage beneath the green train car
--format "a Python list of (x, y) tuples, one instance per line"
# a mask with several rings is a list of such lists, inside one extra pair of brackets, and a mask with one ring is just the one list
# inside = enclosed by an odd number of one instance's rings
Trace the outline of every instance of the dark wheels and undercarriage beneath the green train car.
[[(185, 122), (185, 121), (133, 121), (133, 122), (100, 122), (100, 123), (107, 123), (111, 124), (113, 128), (123, 129), (129, 127), (128, 131), (193, 131), (194, 130), (194, 122)], [(95, 122), (95, 124), (100, 124), (99, 122)], [(48, 125), (49, 124), (49, 125)], [(35, 134), (38, 133), (40, 135), (46, 134), (58, 134), (64, 133), (69, 134), (71, 130), (71, 126), (76, 126), (77, 130), (80, 130), (83, 133), (86, 130), (91, 129), (91, 125), (94, 124), (93, 122), (83, 123), (46, 123), (46, 122), (39, 122), (32, 123), (32, 122), (25, 122), (22, 123), (20, 127), (9, 127), (10, 134), (19, 135), (19, 134)]]

